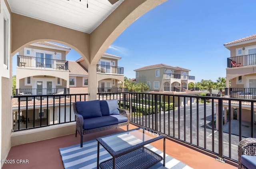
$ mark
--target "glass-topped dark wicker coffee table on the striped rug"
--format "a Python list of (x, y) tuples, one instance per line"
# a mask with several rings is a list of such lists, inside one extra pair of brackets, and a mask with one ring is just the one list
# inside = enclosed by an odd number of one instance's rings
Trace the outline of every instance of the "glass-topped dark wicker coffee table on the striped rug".
[[(99, 137), (97, 169), (147, 169), (164, 159), (166, 135), (147, 127)], [(164, 158), (144, 145), (164, 139)], [(113, 157), (99, 164), (100, 144)]]

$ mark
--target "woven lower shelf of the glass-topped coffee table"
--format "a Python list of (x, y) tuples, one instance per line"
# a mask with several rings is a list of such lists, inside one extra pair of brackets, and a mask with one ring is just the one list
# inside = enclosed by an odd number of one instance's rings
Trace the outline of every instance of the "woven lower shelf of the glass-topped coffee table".
[[(146, 147), (141, 147), (116, 157), (116, 169), (147, 169), (162, 161), (163, 157)], [(113, 159), (100, 163), (101, 169), (112, 169)]]

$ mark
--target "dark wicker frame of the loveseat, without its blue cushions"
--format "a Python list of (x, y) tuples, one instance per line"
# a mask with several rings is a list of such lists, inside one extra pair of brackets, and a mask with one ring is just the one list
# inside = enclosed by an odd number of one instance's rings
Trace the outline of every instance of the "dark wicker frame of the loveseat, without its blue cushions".
[(81, 136), (80, 147), (83, 147), (83, 135), (84, 134), (89, 134), (89, 133), (94, 133), (94, 132), (97, 132), (97, 131), (112, 129), (112, 128), (120, 127), (120, 126), (123, 126), (123, 125), (127, 125), (127, 130), (129, 130), (130, 112), (127, 109), (118, 109), (120, 115), (123, 115), (123, 116), (127, 117), (126, 122), (107, 125), (107, 126), (103, 126), (103, 127), (94, 128), (94, 129), (84, 129), (83, 128), (84, 118), (83, 118), (82, 115), (77, 113), (76, 103), (73, 103), (73, 109), (74, 109), (74, 114), (75, 114), (75, 117), (76, 117), (76, 135), (77, 135), (77, 132), (78, 132)]

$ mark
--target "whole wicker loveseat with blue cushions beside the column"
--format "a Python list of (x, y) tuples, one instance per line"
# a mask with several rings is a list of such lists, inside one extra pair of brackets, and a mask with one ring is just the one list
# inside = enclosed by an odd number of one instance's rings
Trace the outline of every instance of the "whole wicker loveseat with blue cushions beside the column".
[(117, 99), (112, 99), (73, 103), (76, 116), (76, 135), (78, 132), (81, 136), (81, 147), (83, 147), (84, 134), (123, 125), (127, 125), (127, 130), (129, 129), (130, 113), (126, 109), (119, 109), (117, 101)]

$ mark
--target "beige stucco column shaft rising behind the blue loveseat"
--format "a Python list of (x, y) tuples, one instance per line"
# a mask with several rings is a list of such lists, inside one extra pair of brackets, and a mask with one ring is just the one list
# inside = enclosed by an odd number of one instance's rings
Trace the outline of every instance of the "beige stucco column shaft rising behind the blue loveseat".
[(89, 100), (97, 99), (97, 65), (88, 66), (88, 93)]

